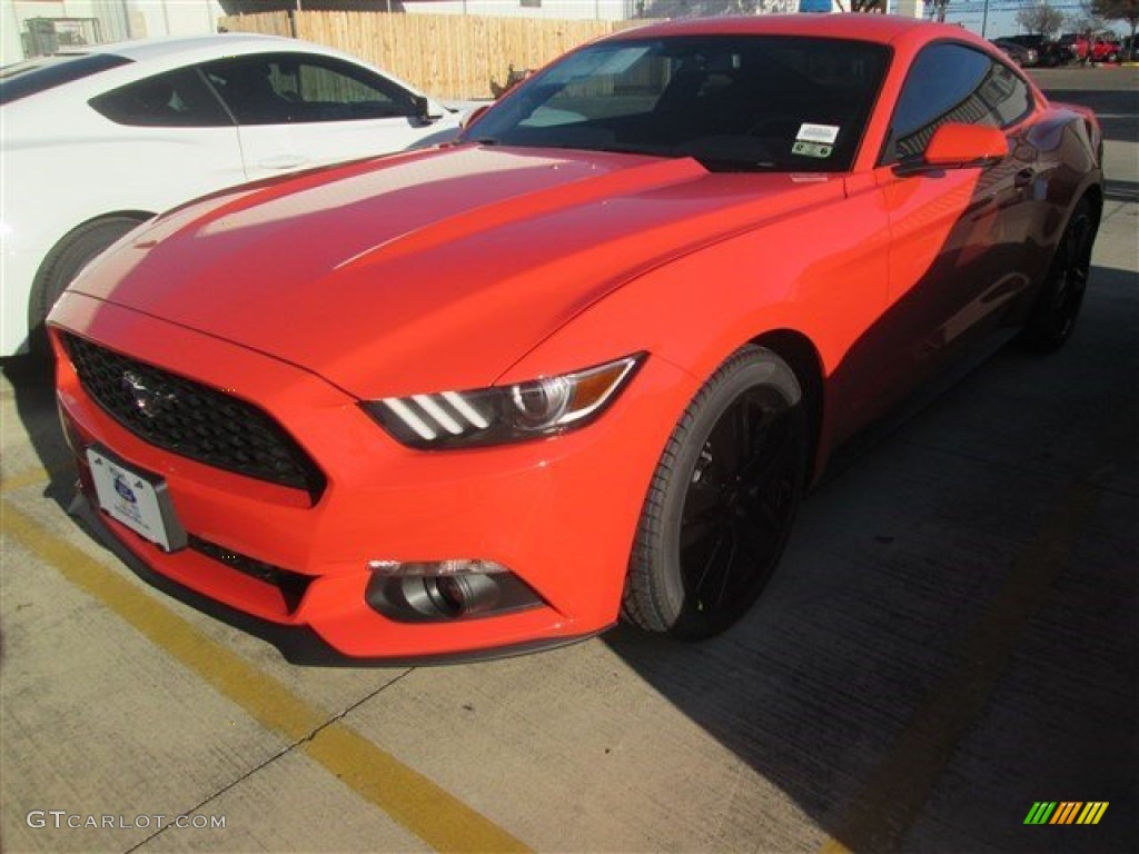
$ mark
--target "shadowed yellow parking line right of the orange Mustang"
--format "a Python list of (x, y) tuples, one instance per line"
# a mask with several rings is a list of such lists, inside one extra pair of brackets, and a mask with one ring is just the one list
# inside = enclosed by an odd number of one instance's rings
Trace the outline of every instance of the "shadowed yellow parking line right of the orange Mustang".
[(1096, 490), (1087, 484), (1068, 490), (958, 647), (957, 667), (913, 713), (819, 854), (887, 853), (902, 846), (958, 740), (1005, 673), (1021, 631), (1048, 597), (1052, 578), (1067, 565), (1097, 500)]

